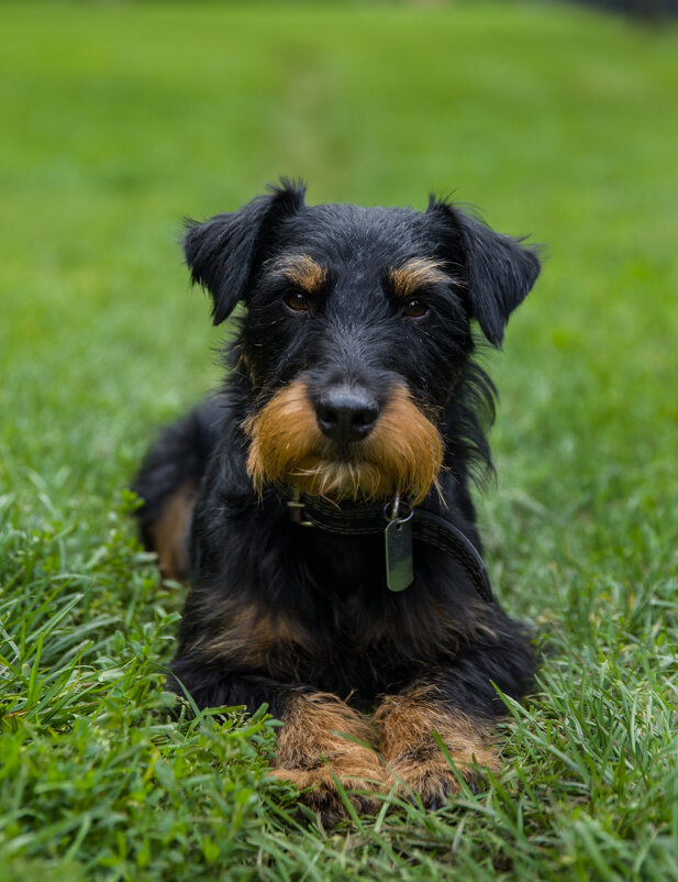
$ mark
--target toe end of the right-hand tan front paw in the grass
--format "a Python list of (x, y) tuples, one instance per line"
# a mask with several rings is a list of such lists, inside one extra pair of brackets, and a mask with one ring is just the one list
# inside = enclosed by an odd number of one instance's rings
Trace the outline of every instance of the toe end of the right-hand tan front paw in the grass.
[(397, 785), (397, 793), (412, 800), (420, 796), (424, 808), (441, 808), (462, 792), (462, 778), (475, 793), (478, 790), (479, 770), (459, 765), (455, 771), (443, 756), (416, 760), (402, 758), (390, 765), (388, 783)]

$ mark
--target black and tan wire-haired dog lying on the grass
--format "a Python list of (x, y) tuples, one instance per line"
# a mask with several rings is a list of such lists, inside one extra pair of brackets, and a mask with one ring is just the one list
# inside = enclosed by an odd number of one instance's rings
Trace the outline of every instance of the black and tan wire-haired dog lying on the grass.
[(334, 823), (342, 791), (357, 811), (391, 787), (436, 808), (498, 770), (497, 687), (532, 682), (469, 487), (492, 467), (496, 393), (474, 356), (501, 345), (540, 260), (448, 200), (304, 199), (281, 179), (188, 222), (214, 323), (245, 309), (223, 388), (164, 431), (134, 488), (163, 575), (191, 584), (170, 687), (267, 704), (273, 774)]

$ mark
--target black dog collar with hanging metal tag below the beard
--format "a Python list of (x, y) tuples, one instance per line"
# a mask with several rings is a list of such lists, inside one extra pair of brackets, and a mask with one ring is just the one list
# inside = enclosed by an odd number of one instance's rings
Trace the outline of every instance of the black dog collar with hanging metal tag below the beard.
[(386, 581), (391, 591), (403, 591), (414, 577), (412, 539), (427, 542), (460, 564), (484, 600), (492, 600), (492, 588), (485, 563), (462, 530), (440, 515), (410, 508), (398, 497), (392, 503), (337, 505), (316, 496), (287, 500), (290, 518), (301, 527), (315, 527), (341, 536), (382, 533), (386, 548)]

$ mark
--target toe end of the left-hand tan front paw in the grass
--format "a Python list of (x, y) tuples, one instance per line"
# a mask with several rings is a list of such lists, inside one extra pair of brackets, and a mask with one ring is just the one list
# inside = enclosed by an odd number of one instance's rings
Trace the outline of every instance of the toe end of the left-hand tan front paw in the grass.
[(369, 779), (333, 773), (324, 764), (314, 769), (275, 769), (270, 774), (278, 781), (294, 784), (299, 790), (300, 802), (318, 813), (325, 827), (334, 826), (348, 814), (336, 780), (341, 782), (345, 798), (348, 798), (358, 815), (376, 811), (378, 803), (374, 794), (384, 790), (385, 781), (379, 765), (375, 765), (374, 776), (370, 772)]

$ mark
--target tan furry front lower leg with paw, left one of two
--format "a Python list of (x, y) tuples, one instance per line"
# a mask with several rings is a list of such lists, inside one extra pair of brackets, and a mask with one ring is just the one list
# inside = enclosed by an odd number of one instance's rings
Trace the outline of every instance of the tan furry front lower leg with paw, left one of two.
[(358, 812), (375, 807), (370, 794), (382, 789), (385, 770), (373, 750), (368, 721), (345, 702), (321, 692), (290, 693), (274, 774), (294, 783), (301, 800), (325, 824), (345, 814), (338, 780)]

